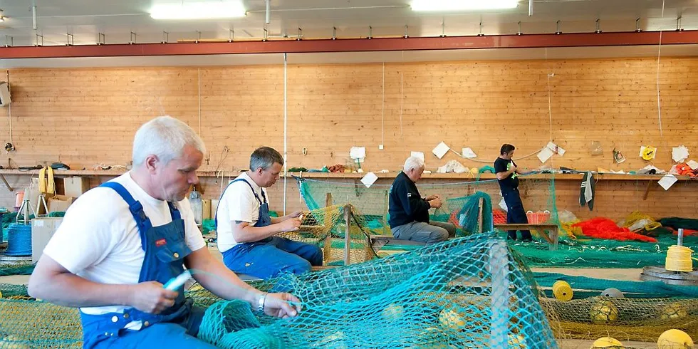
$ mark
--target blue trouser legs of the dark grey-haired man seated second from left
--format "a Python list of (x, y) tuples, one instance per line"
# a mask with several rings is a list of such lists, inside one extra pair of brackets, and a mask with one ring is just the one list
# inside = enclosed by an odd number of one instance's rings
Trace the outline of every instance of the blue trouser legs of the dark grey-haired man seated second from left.
[(239, 274), (264, 280), (283, 273), (303, 274), (311, 266), (323, 265), (323, 250), (306, 244), (273, 236), (271, 241), (237, 244), (223, 252), (223, 263)]

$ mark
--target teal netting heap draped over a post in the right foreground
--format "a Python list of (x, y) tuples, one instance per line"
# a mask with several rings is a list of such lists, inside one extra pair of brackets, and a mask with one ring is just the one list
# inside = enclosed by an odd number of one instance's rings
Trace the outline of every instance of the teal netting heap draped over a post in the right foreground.
[(490, 236), (283, 276), (303, 311), (214, 303), (199, 337), (220, 348), (557, 348), (531, 274)]

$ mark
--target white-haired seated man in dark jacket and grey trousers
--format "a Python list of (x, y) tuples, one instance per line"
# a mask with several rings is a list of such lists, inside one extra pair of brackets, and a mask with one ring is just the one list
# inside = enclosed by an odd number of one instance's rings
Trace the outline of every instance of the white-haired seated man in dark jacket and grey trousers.
[(442, 199), (432, 195), (422, 199), (415, 182), (422, 179), (424, 161), (408, 157), (405, 166), (390, 188), (390, 229), (400, 240), (426, 242), (427, 245), (455, 236), (456, 226), (450, 223), (429, 222), (429, 209), (439, 208)]

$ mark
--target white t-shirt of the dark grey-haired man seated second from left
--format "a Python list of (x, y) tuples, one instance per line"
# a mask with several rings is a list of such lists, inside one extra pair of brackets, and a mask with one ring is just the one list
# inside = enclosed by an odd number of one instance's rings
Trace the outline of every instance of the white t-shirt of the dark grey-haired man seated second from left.
[[(259, 200), (264, 202), (264, 197), (262, 197), (262, 191), (266, 195), (266, 201), (269, 202), (269, 194), (266, 193), (266, 189), (259, 187), (250, 177), (247, 172), (243, 172), (236, 179), (245, 179), (249, 184), (251, 184), (254, 192), (257, 193)], [(221, 201), (218, 203), (218, 209), (216, 210), (218, 227), (218, 249), (221, 252), (228, 251), (232, 249), (233, 246), (238, 244), (233, 236), (233, 224), (234, 221), (248, 222), (250, 225), (254, 225), (259, 220), (259, 202), (254, 197), (253, 189), (245, 182), (234, 182), (231, 183), (221, 197)]]

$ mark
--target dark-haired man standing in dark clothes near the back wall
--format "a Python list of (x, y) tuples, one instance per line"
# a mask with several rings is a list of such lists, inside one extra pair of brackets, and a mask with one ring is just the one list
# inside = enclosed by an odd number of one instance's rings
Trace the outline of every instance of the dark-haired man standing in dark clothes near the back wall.
[[(516, 162), (511, 160), (511, 157), (514, 156), (514, 150), (516, 150), (514, 145), (501, 146), (499, 157), (494, 161), (494, 173), (496, 173), (497, 182), (499, 182), (501, 196), (506, 202), (506, 222), (528, 224), (528, 217), (526, 217), (526, 211), (523, 209), (523, 202), (521, 202), (519, 195), (519, 175), (523, 175), (523, 173), (516, 168)], [(508, 234), (509, 239), (516, 240), (516, 230), (510, 230)], [(531, 231), (522, 230), (521, 240), (531, 241)]]

